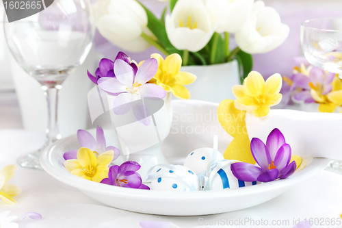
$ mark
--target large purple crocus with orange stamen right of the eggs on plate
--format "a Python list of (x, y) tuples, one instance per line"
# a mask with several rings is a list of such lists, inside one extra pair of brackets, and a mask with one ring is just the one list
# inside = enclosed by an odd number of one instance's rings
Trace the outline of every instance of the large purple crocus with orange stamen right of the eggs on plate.
[(274, 129), (267, 137), (266, 145), (259, 138), (252, 138), (250, 149), (254, 160), (260, 167), (237, 162), (231, 165), (233, 175), (241, 181), (268, 182), (285, 179), (295, 171), (296, 164), (291, 162), (291, 147), (279, 129)]

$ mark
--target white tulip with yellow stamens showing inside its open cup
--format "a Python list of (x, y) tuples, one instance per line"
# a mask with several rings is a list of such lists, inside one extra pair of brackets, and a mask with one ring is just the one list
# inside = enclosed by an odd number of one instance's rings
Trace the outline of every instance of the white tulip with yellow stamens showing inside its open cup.
[(215, 32), (205, 3), (201, 0), (177, 1), (171, 15), (166, 16), (166, 32), (172, 45), (179, 50), (200, 51)]

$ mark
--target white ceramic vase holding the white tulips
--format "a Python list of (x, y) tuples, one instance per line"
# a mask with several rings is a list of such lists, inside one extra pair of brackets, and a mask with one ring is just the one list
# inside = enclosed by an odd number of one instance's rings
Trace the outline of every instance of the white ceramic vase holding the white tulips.
[(235, 99), (232, 86), (239, 85), (239, 64), (237, 60), (209, 66), (182, 66), (181, 71), (197, 76), (187, 86), (191, 99), (220, 103), (224, 99)]

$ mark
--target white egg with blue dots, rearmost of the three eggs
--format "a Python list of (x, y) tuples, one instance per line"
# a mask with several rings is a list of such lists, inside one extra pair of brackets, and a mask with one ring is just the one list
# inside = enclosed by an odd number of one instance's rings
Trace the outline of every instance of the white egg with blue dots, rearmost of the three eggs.
[[(191, 168), (196, 175), (209, 170), (211, 159), (213, 157), (213, 148), (203, 147), (189, 153), (185, 158), (184, 166)], [(220, 151), (216, 153), (216, 161), (224, 160)]]

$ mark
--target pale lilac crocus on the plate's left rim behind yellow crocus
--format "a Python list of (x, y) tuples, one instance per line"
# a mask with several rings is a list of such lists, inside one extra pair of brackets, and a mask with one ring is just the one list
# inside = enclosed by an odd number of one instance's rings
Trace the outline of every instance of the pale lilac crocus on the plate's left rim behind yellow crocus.
[[(77, 140), (79, 140), (81, 147), (86, 147), (91, 151), (94, 151), (94, 153), (97, 153), (97, 155), (105, 153), (106, 151), (114, 151), (113, 161), (120, 155), (120, 150), (118, 148), (113, 146), (106, 147), (105, 134), (102, 127), (99, 125), (96, 127), (96, 139), (88, 131), (79, 129), (77, 131)], [(77, 151), (78, 150), (67, 151), (63, 155), (64, 159), (77, 159)]]

